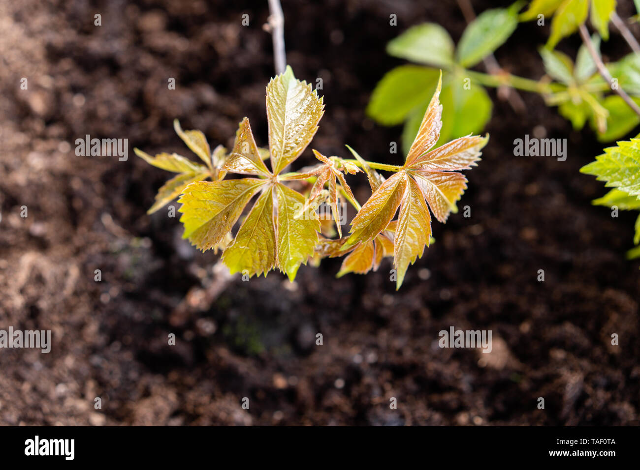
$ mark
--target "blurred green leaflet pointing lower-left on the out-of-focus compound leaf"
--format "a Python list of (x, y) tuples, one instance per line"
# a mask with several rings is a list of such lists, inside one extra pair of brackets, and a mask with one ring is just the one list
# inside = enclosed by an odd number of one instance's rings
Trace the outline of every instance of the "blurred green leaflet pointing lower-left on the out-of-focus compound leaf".
[(440, 72), (417, 65), (401, 65), (382, 77), (376, 85), (367, 114), (383, 125), (396, 125), (422, 102), (428, 100)]

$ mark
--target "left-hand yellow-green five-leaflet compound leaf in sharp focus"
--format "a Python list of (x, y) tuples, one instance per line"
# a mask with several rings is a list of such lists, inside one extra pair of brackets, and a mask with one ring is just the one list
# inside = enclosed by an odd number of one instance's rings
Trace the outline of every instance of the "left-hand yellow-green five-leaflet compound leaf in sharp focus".
[[(234, 148), (221, 166), (221, 175), (231, 172), (259, 178), (189, 185), (179, 201), (183, 237), (203, 251), (215, 247), (230, 236), (244, 207), (260, 192), (222, 260), (231, 272), (249, 276), (266, 274), (277, 266), (292, 281), (300, 264), (314, 255), (320, 222), (305, 197), (280, 183), (278, 178), (284, 175), (277, 175), (308, 145), (322, 113), (316, 91), (298, 81), (290, 67), (272, 79), (267, 87), (269, 152), (257, 147), (244, 118)], [(263, 162), (269, 155), (273, 173)]]

